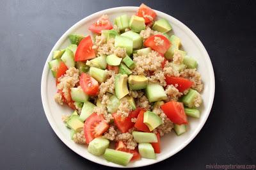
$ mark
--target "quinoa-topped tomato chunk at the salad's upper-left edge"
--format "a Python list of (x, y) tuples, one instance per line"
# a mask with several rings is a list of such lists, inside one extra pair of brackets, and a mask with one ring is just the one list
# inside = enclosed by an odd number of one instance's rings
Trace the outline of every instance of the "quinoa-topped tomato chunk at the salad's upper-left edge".
[(113, 26), (111, 26), (111, 23), (108, 20), (108, 17), (106, 15), (102, 15), (97, 22), (94, 22), (92, 26), (89, 27), (89, 30), (93, 33), (101, 33), (102, 30), (106, 29), (112, 29)]

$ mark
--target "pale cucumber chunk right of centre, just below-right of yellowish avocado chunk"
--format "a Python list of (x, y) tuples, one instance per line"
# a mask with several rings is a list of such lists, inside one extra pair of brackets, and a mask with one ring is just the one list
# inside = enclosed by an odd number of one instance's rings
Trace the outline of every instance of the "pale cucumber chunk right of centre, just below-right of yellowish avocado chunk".
[(149, 102), (156, 102), (167, 98), (163, 86), (157, 83), (150, 83), (147, 85), (146, 95)]

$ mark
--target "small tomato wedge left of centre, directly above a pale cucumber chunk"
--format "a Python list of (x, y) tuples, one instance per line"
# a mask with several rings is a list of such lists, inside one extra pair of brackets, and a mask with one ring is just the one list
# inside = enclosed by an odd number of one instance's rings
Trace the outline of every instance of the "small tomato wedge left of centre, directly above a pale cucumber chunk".
[(99, 83), (86, 73), (81, 73), (79, 84), (87, 95), (97, 95)]

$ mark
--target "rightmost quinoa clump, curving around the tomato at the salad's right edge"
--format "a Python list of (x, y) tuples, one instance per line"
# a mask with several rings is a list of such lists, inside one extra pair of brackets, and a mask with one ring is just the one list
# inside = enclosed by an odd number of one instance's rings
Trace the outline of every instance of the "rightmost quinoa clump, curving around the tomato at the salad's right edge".
[(193, 82), (193, 86), (191, 88), (195, 89), (198, 92), (203, 91), (204, 84), (201, 79), (200, 73), (196, 72), (196, 69), (185, 69), (183, 72), (180, 72), (180, 77), (189, 79)]

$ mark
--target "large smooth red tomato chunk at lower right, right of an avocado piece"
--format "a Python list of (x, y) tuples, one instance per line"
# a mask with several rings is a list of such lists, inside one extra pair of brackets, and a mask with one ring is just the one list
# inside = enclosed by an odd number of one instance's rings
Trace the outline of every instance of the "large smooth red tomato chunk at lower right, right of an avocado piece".
[(173, 123), (178, 125), (188, 123), (188, 118), (182, 103), (175, 101), (167, 102), (166, 104), (161, 105), (161, 109)]

